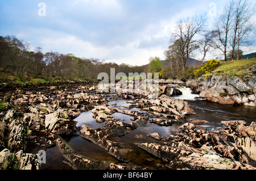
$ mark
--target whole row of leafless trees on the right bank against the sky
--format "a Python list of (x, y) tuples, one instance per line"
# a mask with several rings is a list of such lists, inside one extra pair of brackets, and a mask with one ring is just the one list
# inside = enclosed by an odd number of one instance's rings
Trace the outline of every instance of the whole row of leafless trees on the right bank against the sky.
[(249, 0), (230, 0), (213, 27), (208, 27), (207, 13), (179, 19), (171, 32), (170, 46), (164, 52), (164, 74), (168, 77), (186, 74), (189, 56), (196, 50), (202, 54), (202, 61), (212, 49), (221, 52), (224, 61), (239, 60), (241, 47), (249, 47), (255, 41), (252, 21), (255, 9), (251, 4)]

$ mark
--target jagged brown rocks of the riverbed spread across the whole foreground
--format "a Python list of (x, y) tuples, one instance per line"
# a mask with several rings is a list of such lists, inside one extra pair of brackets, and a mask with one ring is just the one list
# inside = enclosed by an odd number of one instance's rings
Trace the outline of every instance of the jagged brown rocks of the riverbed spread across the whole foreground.
[[(190, 104), (173, 98), (182, 94), (168, 85), (159, 86), (159, 96), (149, 92), (101, 94), (97, 85), (30, 87), (2, 94), (7, 102), (0, 114), (0, 169), (40, 169), (39, 150), (56, 147), (72, 169), (256, 169), (256, 124), (220, 121), (222, 129), (208, 131), (206, 120), (187, 119), (195, 114)], [(174, 93), (175, 92), (175, 93)], [(115, 107), (112, 100), (129, 104)], [(100, 125), (77, 124), (75, 119), (90, 112)], [(115, 115), (127, 115), (124, 120)], [(160, 132), (134, 134), (148, 124), (172, 128), (174, 134)], [(113, 159), (96, 159), (76, 152), (65, 141), (79, 136), (105, 150)], [(126, 136), (133, 146), (126, 144)], [(151, 155), (140, 165), (134, 162), (141, 149)], [(92, 153), (93, 154), (93, 153)], [(159, 160), (156, 166), (152, 159)], [(138, 163), (138, 164), (137, 164)]]

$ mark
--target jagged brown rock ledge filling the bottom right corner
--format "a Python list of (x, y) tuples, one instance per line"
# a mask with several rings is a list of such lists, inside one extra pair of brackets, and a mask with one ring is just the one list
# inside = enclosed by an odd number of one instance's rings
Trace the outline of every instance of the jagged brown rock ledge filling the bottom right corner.
[(225, 121), (227, 128), (208, 132), (185, 123), (176, 135), (161, 138), (162, 144), (135, 143), (169, 162), (171, 169), (256, 169), (256, 124)]

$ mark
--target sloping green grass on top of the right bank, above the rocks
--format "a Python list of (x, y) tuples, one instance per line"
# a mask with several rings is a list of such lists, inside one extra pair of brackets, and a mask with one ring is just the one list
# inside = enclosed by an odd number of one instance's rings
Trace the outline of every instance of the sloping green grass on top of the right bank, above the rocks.
[(256, 65), (256, 58), (251, 58), (249, 60), (235, 60), (228, 62), (221, 62), (220, 66), (211, 71), (214, 75), (225, 74), (229, 75), (246, 75), (253, 73), (252, 71), (245, 71), (251, 66)]

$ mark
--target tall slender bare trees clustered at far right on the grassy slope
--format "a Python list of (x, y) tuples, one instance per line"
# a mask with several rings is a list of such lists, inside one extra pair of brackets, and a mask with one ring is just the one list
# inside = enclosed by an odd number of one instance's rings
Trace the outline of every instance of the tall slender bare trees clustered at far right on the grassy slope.
[[(239, 50), (241, 45), (251, 44), (248, 37), (255, 28), (254, 24), (251, 23), (254, 13), (255, 10), (251, 9), (249, 0), (230, 0), (228, 5), (224, 7), (224, 11), (215, 24), (217, 41), (214, 43), (214, 47), (222, 51), (225, 61), (229, 50), (231, 58), (234, 60), (234, 53), (239, 52), (236, 50)], [(237, 53), (238, 59), (239, 54)]]

